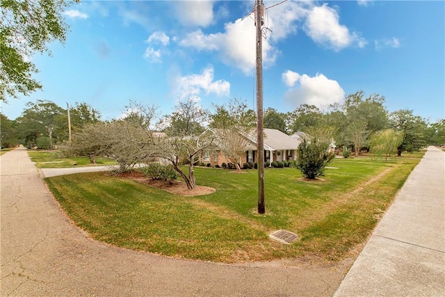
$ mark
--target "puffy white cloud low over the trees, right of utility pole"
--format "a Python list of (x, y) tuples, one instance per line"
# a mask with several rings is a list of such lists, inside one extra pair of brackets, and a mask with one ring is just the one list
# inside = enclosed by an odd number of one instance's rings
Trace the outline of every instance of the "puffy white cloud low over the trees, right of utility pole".
[(286, 86), (294, 86), (295, 83), (299, 83), (299, 86), (290, 88), (284, 93), (285, 102), (293, 107), (304, 103), (324, 107), (340, 102), (345, 96), (345, 92), (339, 83), (333, 79), (328, 79), (323, 74), (317, 73), (315, 77), (309, 77), (307, 74), (300, 75), (297, 72), (287, 70), (282, 74), (282, 78)]

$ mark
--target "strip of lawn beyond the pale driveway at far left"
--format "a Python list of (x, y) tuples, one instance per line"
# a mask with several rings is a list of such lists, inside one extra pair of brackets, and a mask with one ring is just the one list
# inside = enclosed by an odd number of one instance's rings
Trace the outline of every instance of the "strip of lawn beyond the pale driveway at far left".
[(76, 166), (84, 167), (84, 166), (108, 166), (117, 164), (115, 161), (106, 158), (97, 158), (96, 164), (93, 165), (90, 163), (90, 160), (85, 157), (73, 157), (73, 158), (65, 158), (58, 152), (54, 151), (28, 151), (29, 157), (31, 161), (35, 162), (35, 166), (37, 168), (68, 168), (74, 167), (74, 163)]

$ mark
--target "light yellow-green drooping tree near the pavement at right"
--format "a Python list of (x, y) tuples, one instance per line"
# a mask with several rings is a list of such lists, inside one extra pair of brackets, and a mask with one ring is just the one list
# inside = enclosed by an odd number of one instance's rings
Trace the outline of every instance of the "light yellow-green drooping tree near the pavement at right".
[(384, 129), (375, 132), (369, 140), (370, 150), (377, 156), (384, 155), (385, 161), (391, 154), (396, 154), (397, 147), (403, 141), (403, 132), (394, 129)]

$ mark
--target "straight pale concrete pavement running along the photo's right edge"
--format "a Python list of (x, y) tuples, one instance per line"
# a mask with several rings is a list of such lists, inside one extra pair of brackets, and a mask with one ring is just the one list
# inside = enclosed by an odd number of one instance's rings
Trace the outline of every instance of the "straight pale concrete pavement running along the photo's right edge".
[(334, 296), (445, 296), (444, 160), (428, 147)]

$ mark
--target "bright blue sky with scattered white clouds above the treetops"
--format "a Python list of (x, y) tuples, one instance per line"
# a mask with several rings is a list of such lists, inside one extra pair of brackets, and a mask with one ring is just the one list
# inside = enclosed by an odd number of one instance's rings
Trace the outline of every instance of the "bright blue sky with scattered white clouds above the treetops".
[[(364, 90), (389, 111), (445, 118), (444, 1), (264, 1), (264, 108), (323, 111)], [(1, 104), (87, 102), (104, 120), (129, 100), (172, 111), (195, 97), (211, 109), (243, 99), (255, 109), (254, 1), (83, 1), (65, 11), (65, 45), (32, 61), (44, 88)], [(268, 9), (267, 9), (268, 8)], [(247, 17), (246, 17), (247, 16)]]

